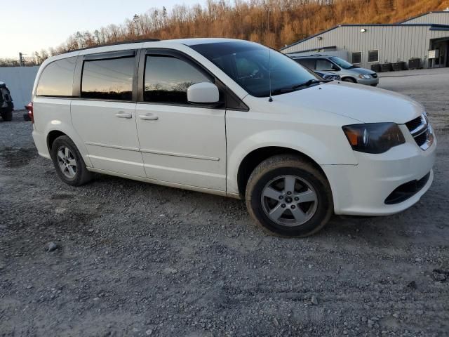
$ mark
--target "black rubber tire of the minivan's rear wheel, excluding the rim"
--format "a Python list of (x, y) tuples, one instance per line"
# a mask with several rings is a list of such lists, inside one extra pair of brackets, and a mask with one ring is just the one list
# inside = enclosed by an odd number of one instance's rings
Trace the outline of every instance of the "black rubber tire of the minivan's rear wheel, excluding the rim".
[[(70, 158), (74, 159), (76, 162), (76, 170), (74, 170), (74, 176), (72, 178), (66, 176), (66, 174), (62, 171), (60, 161), (58, 159), (58, 151), (65, 148), (69, 149)], [(73, 141), (67, 136), (60, 136), (55, 139), (51, 147), (51, 159), (53, 160), (53, 165), (55, 166), (58, 176), (68, 185), (80, 186), (88, 183), (88, 181), (92, 179), (93, 174), (86, 169), (86, 164), (83, 161), (83, 157), (81, 157), (81, 154)]]

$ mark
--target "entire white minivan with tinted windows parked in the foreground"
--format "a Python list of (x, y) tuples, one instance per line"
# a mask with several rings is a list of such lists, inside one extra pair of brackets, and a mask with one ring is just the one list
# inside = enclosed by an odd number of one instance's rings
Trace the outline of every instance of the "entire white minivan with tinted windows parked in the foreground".
[(234, 39), (140, 41), (49, 58), (33, 138), (69, 185), (93, 172), (246, 200), (268, 230), (304, 237), (333, 213), (381, 216), (434, 178), (420, 103), (326, 81)]

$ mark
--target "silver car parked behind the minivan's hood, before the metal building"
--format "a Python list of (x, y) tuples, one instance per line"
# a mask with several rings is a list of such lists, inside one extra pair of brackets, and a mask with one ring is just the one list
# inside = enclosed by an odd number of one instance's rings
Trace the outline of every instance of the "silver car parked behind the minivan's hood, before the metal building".
[(329, 55), (309, 55), (293, 57), (293, 60), (314, 72), (331, 72), (340, 75), (342, 81), (377, 86), (379, 78), (373, 70), (358, 67), (351, 63)]

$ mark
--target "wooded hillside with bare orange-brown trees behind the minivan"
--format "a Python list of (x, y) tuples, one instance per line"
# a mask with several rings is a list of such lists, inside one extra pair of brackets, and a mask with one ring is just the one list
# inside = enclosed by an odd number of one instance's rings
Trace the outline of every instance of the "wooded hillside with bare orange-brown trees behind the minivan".
[(338, 24), (398, 22), (448, 6), (449, 0), (208, 0), (205, 6), (179, 5), (170, 12), (151, 8), (119, 25), (76, 32), (65, 44), (34, 53), (29, 62), (39, 64), (49, 55), (78, 48), (149, 38), (229, 37), (281, 48)]

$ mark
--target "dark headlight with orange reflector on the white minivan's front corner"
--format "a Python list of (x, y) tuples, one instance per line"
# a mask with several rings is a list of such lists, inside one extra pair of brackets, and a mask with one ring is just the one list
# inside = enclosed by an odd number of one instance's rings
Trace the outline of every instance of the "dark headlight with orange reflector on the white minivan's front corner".
[(391, 147), (406, 143), (396, 123), (370, 123), (343, 126), (352, 150), (366, 153), (383, 153)]

